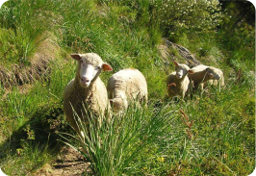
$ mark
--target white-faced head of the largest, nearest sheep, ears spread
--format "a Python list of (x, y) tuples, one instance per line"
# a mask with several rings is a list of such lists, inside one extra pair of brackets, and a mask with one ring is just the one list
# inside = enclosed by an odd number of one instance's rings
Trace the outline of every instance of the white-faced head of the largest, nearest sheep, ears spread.
[(90, 83), (95, 80), (101, 70), (112, 71), (111, 65), (104, 63), (101, 58), (95, 53), (73, 54), (70, 55), (74, 60), (78, 61), (78, 75), (80, 85), (84, 88), (90, 86)]

